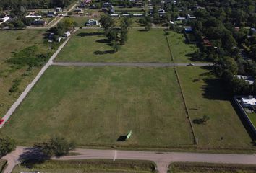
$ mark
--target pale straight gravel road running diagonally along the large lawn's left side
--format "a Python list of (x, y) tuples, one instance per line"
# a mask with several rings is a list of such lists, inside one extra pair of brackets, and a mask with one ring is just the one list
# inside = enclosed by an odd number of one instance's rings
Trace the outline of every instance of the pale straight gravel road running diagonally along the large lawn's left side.
[[(76, 32), (78, 29), (74, 30), (74, 32)], [(9, 108), (8, 112), (4, 115), (4, 117), (2, 119), (4, 119), (4, 123), (2, 123), (0, 125), (0, 128), (2, 128), (4, 126), (5, 123), (8, 122), (9, 117), (12, 116), (13, 112), (17, 109), (17, 107), (20, 105), (20, 103), (23, 101), (23, 99), (25, 99), (25, 97), (27, 96), (28, 92), (30, 92), (30, 90), (33, 88), (33, 86), (36, 84), (36, 82), (40, 79), (40, 77), (43, 75), (43, 73), (46, 71), (46, 69), (51, 66), (51, 64), (54, 61), (54, 58), (56, 58), (56, 56), (58, 55), (58, 53), (61, 51), (62, 48), (64, 48), (64, 46), (67, 44), (67, 42), (69, 41), (71, 37), (68, 37), (67, 40), (64, 41), (64, 43), (62, 43), (61, 46), (59, 46), (59, 48), (56, 50), (56, 52), (54, 53), (54, 55), (51, 56), (51, 58), (48, 60), (48, 62), (46, 63), (45, 66), (43, 66), (43, 68), (41, 68), (41, 70), (39, 71), (38, 75), (35, 76), (35, 79), (33, 79), (33, 81), (27, 85), (27, 87), (25, 88), (24, 92), (22, 92), (22, 94), (20, 95), (20, 97), (16, 100), (16, 102), (14, 102), (14, 104), (12, 105), (12, 107)]]

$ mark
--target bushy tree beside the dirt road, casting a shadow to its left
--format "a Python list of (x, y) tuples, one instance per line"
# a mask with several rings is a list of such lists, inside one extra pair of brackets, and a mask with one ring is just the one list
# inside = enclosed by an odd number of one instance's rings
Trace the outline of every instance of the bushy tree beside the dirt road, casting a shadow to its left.
[(34, 146), (40, 148), (43, 154), (48, 157), (63, 156), (75, 148), (74, 143), (69, 143), (66, 138), (60, 136), (52, 137), (47, 142), (36, 143)]

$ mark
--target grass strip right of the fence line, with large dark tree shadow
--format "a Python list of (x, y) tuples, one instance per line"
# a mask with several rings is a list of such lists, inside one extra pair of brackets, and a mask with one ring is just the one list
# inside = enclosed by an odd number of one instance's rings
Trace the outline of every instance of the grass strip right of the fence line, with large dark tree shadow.
[(199, 146), (249, 146), (251, 139), (231, 105), (231, 97), (226, 94), (223, 84), (209, 72), (200, 67), (178, 68), (192, 120), (203, 115), (210, 117), (205, 125), (193, 124)]

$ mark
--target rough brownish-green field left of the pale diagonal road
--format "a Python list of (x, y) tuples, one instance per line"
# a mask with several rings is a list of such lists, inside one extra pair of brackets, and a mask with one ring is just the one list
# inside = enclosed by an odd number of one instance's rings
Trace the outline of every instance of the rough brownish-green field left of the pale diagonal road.
[[(51, 52), (48, 45), (43, 44), (43, 33), (45, 30), (4, 30), (0, 31), (0, 118), (9, 109), (12, 103), (20, 95), (20, 92), (31, 81), (39, 68), (12, 68), (5, 63), (13, 53), (27, 48), (28, 46), (37, 45), (40, 50), (38, 53)], [(9, 93), (9, 89), (14, 84), (14, 80), (21, 80), (17, 92)]]

